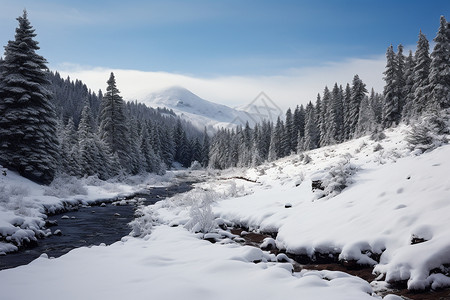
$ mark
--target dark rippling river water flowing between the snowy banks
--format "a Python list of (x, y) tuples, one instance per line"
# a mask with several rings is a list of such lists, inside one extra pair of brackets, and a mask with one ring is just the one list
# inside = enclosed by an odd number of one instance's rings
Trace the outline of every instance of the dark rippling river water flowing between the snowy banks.
[[(191, 184), (182, 182), (167, 188), (151, 188), (136, 195), (136, 198), (144, 198), (144, 205), (155, 204), (166, 197), (190, 190)], [(39, 239), (35, 247), (0, 256), (0, 270), (26, 265), (42, 253), (59, 257), (74, 248), (117, 242), (131, 232), (128, 223), (134, 219), (136, 208), (135, 204), (112, 205), (106, 202), (106, 206), (80, 207), (76, 211), (51, 216), (48, 219), (58, 223), (50, 227), (51, 231), (59, 229), (62, 235)]]

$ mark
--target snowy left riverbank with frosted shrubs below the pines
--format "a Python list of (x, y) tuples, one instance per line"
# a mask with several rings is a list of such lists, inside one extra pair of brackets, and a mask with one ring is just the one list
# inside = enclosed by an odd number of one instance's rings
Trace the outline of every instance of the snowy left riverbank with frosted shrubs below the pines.
[(42, 229), (47, 213), (99, 200), (117, 199), (148, 185), (167, 184), (172, 178), (171, 172), (165, 176), (129, 177), (125, 181), (63, 177), (57, 178), (50, 186), (42, 186), (7, 171), (6, 175), (0, 175), (0, 237), (3, 237), (3, 241), (0, 239), (0, 255), (17, 251), (16, 245), (52, 234), (50, 230)]

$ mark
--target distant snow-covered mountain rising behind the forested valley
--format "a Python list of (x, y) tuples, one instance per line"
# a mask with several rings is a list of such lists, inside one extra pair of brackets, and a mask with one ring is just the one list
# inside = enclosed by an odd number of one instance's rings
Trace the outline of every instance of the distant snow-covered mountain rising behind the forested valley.
[(230, 124), (245, 125), (246, 122), (252, 126), (261, 121), (260, 115), (204, 100), (182, 87), (171, 87), (152, 93), (143, 102), (153, 108), (172, 109), (199, 129), (206, 126), (209, 131)]

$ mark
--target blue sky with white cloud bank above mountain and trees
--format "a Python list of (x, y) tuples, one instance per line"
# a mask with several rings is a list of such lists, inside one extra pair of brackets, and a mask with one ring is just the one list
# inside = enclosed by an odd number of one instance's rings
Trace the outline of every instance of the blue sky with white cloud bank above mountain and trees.
[(355, 74), (382, 92), (386, 48), (435, 37), (448, 0), (0, 0), (0, 44), (24, 8), (51, 70), (126, 100), (183, 86), (245, 106), (264, 91), (280, 107), (314, 101)]

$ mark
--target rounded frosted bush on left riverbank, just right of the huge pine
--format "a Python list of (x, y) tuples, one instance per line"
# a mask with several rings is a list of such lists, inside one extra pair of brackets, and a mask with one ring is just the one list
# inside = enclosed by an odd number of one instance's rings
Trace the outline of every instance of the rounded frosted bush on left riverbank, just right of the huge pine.
[(45, 188), (44, 195), (63, 198), (73, 195), (87, 195), (87, 190), (78, 178), (60, 174)]

